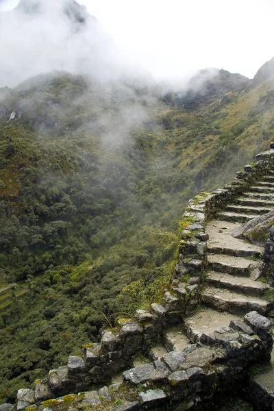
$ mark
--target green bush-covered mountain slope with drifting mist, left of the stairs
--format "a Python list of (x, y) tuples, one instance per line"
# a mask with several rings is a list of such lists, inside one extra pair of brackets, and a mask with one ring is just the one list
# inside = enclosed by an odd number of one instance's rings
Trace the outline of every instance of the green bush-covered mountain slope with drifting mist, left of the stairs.
[(188, 199), (268, 147), (273, 89), (192, 111), (67, 73), (0, 90), (16, 112), (0, 117), (0, 401), (81, 354), (116, 313), (161, 300)]

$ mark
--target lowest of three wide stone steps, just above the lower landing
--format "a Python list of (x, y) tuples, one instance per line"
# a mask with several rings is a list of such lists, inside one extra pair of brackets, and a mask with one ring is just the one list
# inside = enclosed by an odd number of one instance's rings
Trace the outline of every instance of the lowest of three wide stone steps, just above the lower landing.
[(262, 298), (249, 297), (211, 286), (204, 288), (201, 300), (216, 310), (231, 312), (232, 314), (247, 314), (249, 311), (257, 311), (259, 314), (266, 315), (273, 308), (273, 303), (269, 303), (269, 301)]

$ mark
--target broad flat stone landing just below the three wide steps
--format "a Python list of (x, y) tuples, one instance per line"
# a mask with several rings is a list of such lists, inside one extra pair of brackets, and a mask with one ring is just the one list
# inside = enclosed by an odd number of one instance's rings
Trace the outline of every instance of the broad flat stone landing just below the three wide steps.
[(230, 321), (240, 317), (230, 312), (220, 312), (203, 306), (195, 314), (186, 318), (187, 335), (192, 343), (198, 343), (201, 334), (210, 334), (219, 327), (228, 326)]

